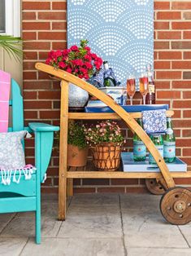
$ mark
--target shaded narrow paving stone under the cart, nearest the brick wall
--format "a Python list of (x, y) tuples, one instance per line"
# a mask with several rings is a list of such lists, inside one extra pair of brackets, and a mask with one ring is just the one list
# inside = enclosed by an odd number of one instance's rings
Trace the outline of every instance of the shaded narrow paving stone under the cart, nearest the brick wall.
[(119, 205), (117, 194), (78, 194), (73, 196), (71, 205)]

